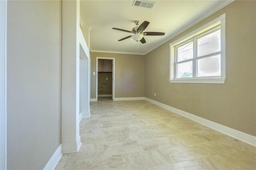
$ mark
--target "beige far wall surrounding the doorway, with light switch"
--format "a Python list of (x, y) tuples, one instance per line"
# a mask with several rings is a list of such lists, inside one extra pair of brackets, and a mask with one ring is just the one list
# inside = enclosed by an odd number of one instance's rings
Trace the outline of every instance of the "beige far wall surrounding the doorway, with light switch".
[(96, 57), (115, 58), (115, 97), (144, 97), (144, 55), (91, 52), (91, 98), (96, 98)]

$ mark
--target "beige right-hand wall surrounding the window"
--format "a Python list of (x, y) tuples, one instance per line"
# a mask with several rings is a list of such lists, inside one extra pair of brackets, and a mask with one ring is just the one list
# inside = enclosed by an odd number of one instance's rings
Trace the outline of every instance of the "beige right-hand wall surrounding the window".
[[(234, 1), (145, 57), (145, 96), (256, 136), (256, 1)], [(170, 83), (169, 44), (226, 13), (226, 82)], [(154, 97), (156, 93), (156, 97)]]

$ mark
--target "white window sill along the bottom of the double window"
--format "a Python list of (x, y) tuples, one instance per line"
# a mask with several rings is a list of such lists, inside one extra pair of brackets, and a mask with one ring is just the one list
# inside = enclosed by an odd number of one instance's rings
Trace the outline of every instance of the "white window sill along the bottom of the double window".
[(214, 83), (224, 84), (226, 79), (170, 79), (170, 83)]

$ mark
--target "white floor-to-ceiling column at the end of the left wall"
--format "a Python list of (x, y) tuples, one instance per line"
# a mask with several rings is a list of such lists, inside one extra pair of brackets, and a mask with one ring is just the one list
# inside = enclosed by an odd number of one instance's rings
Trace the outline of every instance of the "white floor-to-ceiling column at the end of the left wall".
[[(63, 153), (78, 152), (82, 144), (79, 135), (81, 38), (78, 32), (79, 14), (79, 0), (62, 2), (61, 141)], [(70, 100), (75, 103), (71, 104)]]

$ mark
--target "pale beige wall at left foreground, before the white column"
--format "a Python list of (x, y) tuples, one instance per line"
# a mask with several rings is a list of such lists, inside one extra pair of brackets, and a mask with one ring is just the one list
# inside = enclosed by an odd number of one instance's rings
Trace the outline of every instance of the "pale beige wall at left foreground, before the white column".
[(61, 1), (8, 1), (7, 168), (42, 169), (61, 142)]

